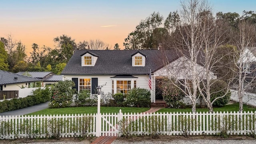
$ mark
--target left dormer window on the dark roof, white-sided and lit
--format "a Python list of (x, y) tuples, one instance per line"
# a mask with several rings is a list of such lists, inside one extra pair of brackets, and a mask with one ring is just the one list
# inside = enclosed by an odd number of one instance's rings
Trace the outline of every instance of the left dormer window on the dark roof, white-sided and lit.
[(81, 65), (82, 66), (94, 66), (98, 56), (93, 54), (92, 52), (86, 51), (84, 54), (81, 55)]

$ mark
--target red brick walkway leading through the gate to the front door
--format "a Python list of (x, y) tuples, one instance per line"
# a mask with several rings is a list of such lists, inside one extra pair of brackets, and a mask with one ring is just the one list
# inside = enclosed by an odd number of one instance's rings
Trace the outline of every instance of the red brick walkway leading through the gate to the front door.
[[(148, 111), (144, 113), (150, 113), (150, 112), (153, 113), (160, 109), (161, 108), (150, 108)], [(94, 140), (91, 144), (111, 144), (112, 142), (114, 142), (114, 140), (116, 140), (116, 138), (117, 136), (100, 136), (96, 138), (96, 140)]]

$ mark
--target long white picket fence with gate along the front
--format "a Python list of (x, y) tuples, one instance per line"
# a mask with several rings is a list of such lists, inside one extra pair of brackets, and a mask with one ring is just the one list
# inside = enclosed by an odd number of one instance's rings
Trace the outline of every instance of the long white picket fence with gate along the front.
[[(0, 135), (15, 138), (95, 136), (97, 114), (62, 116), (0, 116)], [(101, 114), (101, 136), (256, 134), (255, 112)]]

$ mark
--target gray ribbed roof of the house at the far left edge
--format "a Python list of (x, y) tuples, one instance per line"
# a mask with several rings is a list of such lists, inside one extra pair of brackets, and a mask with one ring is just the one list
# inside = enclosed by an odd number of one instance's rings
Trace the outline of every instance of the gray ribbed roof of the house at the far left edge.
[(24, 82), (37, 82), (42, 81), (38, 78), (31, 78), (29, 76), (22, 76), (20, 74), (15, 74), (12, 72), (6, 72), (0, 70), (0, 85), (3, 84), (16, 84), (16, 83), (24, 83)]

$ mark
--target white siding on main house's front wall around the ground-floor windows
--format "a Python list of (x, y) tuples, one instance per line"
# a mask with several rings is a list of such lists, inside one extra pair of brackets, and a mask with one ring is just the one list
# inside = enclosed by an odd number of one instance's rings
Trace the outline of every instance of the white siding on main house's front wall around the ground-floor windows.
[[(112, 78), (116, 75), (64, 75), (64, 80), (72, 80), (72, 78), (98, 78), (98, 85), (104, 85), (105, 86), (102, 87), (102, 91), (104, 93), (112, 93)], [(136, 79), (137, 82), (137, 88), (146, 88), (148, 90), (150, 90), (149, 86), (148, 86), (148, 76), (146, 75), (133, 75), (135, 77), (138, 77)], [(126, 79), (122, 79), (122, 78), (118, 78), (118, 80), (128, 80)]]

